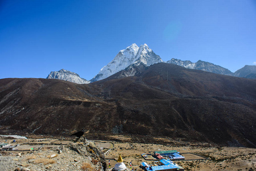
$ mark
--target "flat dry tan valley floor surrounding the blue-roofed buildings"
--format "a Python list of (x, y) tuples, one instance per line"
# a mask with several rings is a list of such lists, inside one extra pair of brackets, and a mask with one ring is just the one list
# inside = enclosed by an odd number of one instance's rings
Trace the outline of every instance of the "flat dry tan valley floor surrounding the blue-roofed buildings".
[[(115, 139), (127, 141), (129, 137), (115, 136)], [(117, 159), (120, 153), (125, 165), (129, 166), (132, 161), (132, 168), (141, 170), (139, 165), (145, 161), (141, 157), (142, 153), (153, 153), (156, 150), (177, 150), (185, 157), (185, 160), (175, 162), (185, 170), (256, 170), (255, 148), (219, 147), (216, 144), (188, 143), (169, 138), (156, 141), (162, 141), (162, 144), (114, 143), (113, 150), (106, 154), (105, 158), (107, 162), (110, 159), (111, 166), (114, 166), (116, 161), (111, 158)], [(146, 162), (150, 165), (156, 164), (156, 160)]]

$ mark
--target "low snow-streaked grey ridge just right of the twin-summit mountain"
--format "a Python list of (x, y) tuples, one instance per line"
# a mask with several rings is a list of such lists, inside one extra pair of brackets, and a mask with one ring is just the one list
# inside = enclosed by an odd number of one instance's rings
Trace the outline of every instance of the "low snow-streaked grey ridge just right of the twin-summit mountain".
[(173, 58), (171, 60), (168, 60), (166, 63), (176, 64), (177, 66), (185, 67), (188, 69), (202, 70), (202, 71), (213, 72), (213, 73), (222, 74), (222, 75), (233, 75), (231, 71), (227, 70), (224, 67), (217, 66), (209, 62), (204, 62), (202, 60), (198, 60), (198, 62), (192, 63), (190, 62), (190, 60), (180, 60), (180, 59)]

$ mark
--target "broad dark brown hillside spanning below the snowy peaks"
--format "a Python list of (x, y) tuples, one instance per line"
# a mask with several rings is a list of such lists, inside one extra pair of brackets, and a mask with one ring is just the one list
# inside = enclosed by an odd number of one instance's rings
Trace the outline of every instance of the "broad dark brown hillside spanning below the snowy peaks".
[(67, 136), (85, 128), (92, 139), (256, 147), (256, 80), (166, 63), (126, 78), (120, 73), (84, 85), (1, 79), (0, 133)]

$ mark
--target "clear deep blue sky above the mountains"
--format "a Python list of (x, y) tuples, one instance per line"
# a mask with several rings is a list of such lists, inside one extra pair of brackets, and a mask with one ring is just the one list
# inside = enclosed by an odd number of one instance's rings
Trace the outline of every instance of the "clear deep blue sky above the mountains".
[(234, 72), (256, 63), (256, 1), (0, 1), (0, 79), (92, 79), (132, 43)]

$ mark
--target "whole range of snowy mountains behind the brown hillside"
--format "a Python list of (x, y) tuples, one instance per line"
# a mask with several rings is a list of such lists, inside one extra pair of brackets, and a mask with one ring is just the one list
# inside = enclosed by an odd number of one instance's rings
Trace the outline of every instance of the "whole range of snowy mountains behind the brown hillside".
[[(162, 59), (159, 55), (156, 55), (147, 44), (142, 44), (138, 47), (135, 43), (127, 47), (125, 50), (119, 51), (115, 58), (101, 68), (99, 74), (97, 74), (90, 81), (80, 78), (78, 74), (67, 70), (52, 71), (47, 79), (60, 79), (78, 84), (87, 84), (96, 82), (108, 78), (109, 76), (116, 74), (119, 71), (125, 70), (123, 76), (133, 76), (136, 74), (139, 65), (151, 66), (155, 63), (162, 63)], [(204, 62), (198, 60), (196, 63), (192, 63), (189, 60), (171, 59), (164, 63), (172, 63), (181, 67), (185, 67), (193, 70), (202, 70), (207, 72), (213, 72), (216, 74), (237, 76), (242, 78), (256, 79), (256, 66), (245, 66), (236, 72), (231, 72), (224, 67), (217, 66), (216, 64)], [(140, 67), (141, 70), (141, 67)]]

